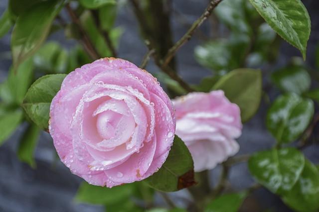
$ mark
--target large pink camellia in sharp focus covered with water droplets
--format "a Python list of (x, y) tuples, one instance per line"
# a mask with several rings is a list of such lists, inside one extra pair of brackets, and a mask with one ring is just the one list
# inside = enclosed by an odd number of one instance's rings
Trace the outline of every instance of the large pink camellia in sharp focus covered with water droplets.
[(173, 113), (151, 74), (104, 58), (64, 79), (51, 103), (49, 131), (72, 173), (111, 188), (160, 169), (174, 138)]

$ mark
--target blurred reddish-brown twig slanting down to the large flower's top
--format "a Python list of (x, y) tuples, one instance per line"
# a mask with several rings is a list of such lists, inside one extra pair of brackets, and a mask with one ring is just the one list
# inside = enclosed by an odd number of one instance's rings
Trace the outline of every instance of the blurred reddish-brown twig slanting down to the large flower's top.
[(66, 10), (69, 13), (72, 21), (78, 27), (78, 29), (82, 35), (81, 41), (82, 41), (82, 45), (85, 48), (85, 50), (88, 52), (88, 54), (90, 55), (90, 57), (93, 60), (99, 59), (100, 57), (99, 57), (97, 50), (95, 49), (94, 45), (92, 44), (91, 40), (89, 39), (89, 36), (87, 35), (86, 31), (82, 27), (80, 20), (78, 19), (78, 17), (76, 16), (74, 11), (72, 10), (69, 3), (66, 4)]

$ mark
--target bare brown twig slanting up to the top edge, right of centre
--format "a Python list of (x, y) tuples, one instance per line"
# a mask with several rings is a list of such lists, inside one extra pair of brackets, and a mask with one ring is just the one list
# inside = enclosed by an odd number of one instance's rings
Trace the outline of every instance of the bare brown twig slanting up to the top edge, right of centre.
[(194, 34), (196, 29), (207, 19), (211, 14), (213, 9), (221, 2), (222, 0), (211, 0), (205, 9), (204, 13), (191, 25), (187, 32), (168, 50), (167, 55), (164, 58), (163, 66), (167, 66), (170, 60), (174, 57), (177, 50), (188, 41), (191, 36)]

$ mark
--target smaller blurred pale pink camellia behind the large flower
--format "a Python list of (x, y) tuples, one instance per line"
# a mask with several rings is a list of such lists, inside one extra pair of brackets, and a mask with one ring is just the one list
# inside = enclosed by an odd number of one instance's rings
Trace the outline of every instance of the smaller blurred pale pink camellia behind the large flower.
[(239, 150), (234, 140), (241, 135), (240, 109), (223, 91), (190, 93), (173, 100), (176, 135), (188, 147), (194, 170), (214, 168)]

